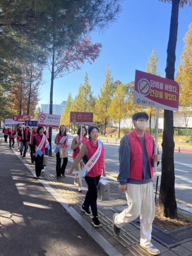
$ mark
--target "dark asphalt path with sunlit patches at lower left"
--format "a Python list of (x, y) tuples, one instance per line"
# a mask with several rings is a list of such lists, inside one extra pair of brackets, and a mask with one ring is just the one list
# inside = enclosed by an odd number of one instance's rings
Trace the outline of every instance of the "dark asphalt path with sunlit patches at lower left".
[(63, 255), (107, 253), (4, 143), (0, 146), (0, 256)]

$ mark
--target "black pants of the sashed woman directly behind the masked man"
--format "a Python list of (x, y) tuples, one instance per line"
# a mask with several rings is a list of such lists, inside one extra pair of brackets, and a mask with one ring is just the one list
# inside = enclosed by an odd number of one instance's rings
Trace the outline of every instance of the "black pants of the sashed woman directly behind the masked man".
[(88, 191), (87, 194), (85, 195), (84, 199), (84, 207), (89, 207), (91, 206), (91, 211), (93, 217), (97, 216), (97, 205), (96, 205), (96, 199), (97, 199), (97, 185), (99, 183), (101, 175), (96, 176), (96, 177), (88, 177), (85, 176), (85, 182), (88, 185)]

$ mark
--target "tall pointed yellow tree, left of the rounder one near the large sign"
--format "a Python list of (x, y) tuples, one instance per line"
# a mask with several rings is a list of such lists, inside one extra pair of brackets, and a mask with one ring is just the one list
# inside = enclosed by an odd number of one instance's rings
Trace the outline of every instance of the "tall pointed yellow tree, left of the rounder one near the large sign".
[(94, 111), (94, 120), (104, 123), (104, 135), (106, 134), (107, 120), (110, 117), (108, 108), (113, 97), (113, 83), (109, 66), (105, 73), (105, 81), (100, 88), (100, 94), (96, 98), (96, 105)]

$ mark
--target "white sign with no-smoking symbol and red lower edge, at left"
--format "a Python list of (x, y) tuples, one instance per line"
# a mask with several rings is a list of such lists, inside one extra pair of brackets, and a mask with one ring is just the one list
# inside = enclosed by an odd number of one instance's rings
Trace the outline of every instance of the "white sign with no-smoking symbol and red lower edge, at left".
[(60, 116), (40, 113), (37, 124), (38, 126), (59, 127)]

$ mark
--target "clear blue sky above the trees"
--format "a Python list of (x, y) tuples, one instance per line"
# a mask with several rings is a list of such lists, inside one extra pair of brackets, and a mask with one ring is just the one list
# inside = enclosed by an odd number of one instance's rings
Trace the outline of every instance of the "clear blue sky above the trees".
[[(145, 71), (153, 48), (158, 57), (157, 71), (165, 76), (171, 4), (158, 0), (124, 0), (121, 9), (114, 23), (102, 33), (93, 33), (92, 41), (103, 45), (99, 58), (92, 65), (84, 64), (81, 70), (54, 81), (53, 103), (59, 104), (62, 100), (67, 100), (69, 93), (74, 98), (79, 85), (84, 82), (86, 71), (96, 96), (103, 84), (108, 64), (113, 81), (132, 81), (135, 69)], [(182, 39), (190, 23), (192, 8), (186, 6), (179, 13), (176, 72), (184, 46)], [(48, 103), (49, 100), (50, 73), (47, 70), (44, 71), (43, 78), (45, 84), (40, 89), (39, 105)]]

